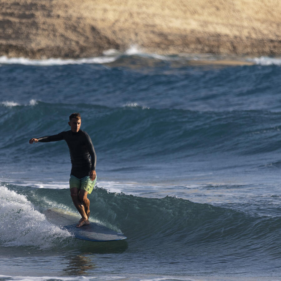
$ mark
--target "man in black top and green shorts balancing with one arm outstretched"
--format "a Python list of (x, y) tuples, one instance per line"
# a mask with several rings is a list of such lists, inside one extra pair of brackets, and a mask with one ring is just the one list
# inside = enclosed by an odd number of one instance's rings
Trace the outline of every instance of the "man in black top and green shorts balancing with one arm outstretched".
[(96, 183), (96, 152), (90, 136), (80, 130), (81, 115), (72, 113), (69, 116), (69, 131), (63, 131), (53, 136), (43, 136), (31, 138), (29, 143), (62, 141), (67, 142), (70, 159), (71, 173), (69, 179), (70, 195), (72, 201), (81, 214), (76, 227), (90, 224), (90, 200), (87, 198), (91, 194)]

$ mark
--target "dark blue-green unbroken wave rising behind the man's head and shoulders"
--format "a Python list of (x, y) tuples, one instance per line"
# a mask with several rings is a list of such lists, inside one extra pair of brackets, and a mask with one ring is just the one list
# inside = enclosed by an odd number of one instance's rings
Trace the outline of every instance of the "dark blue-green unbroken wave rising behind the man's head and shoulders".
[[(30, 105), (32, 104), (32, 105)], [(3, 143), (13, 131), (28, 139), (25, 124), (29, 122), (36, 136), (55, 134), (69, 129), (67, 115), (73, 104), (49, 104), (29, 101), (26, 105), (2, 102)], [(156, 109), (138, 104), (122, 107), (79, 104), (83, 129), (94, 138), (99, 151), (116, 151), (117, 155), (139, 158), (151, 155), (192, 156), (229, 152), (231, 155), (255, 155), (279, 151), (280, 112), (266, 110), (191, 111), (184, 109)], [(46, 118), (50, 115), (51, 117)], [(94, 116), (94, 118), (92, 118)], [(64, 120), (65, 119), (65, 120)], [(12, 126), (11, 126), (12, 123)], [(84, 125), (85, 123), (85, 125)], [(124, 133), (126, 132), (126, 133)], [(31, 134), (28, 132), (29, 135)], [(33, 134), (34, 134), (33, 133)], [(9, 146), (18, 141), (12, 140)], [(19, 144), (19, 148), (26, 143)], [(40, 151), (49, 146), (39, 144)], [(5, 148), (5, 146), (3, 147)], [(56, 154), (65, 154), (59, 143)], [(23, 151), (24, 153), (24, 151)], [(120, 156), (118, 155), (118, 156)]]

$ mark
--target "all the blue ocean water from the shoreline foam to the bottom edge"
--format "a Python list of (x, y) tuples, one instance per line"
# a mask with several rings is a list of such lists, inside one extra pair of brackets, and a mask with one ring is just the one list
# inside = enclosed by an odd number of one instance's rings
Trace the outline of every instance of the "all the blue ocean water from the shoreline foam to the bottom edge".
[[(281, 280), (280, 66), (0, 57), (0, 280)], [(69, 152), (28, 140), (69, 130), (72, 112), (97, 154), (91, 220), (126, 241), (75, 239), (46, 217), (77, 213)]]

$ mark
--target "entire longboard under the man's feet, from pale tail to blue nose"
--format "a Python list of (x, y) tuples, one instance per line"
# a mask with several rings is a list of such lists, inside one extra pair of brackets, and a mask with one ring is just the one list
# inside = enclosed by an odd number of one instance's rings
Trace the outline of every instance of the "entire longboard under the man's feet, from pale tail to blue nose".
[(58, 225), (62, 229), (66, 229), (73, 237), (94, 241), (94, 242), (106, 242), (123, 240), (127, 237), (121, 233), (118, 233), (102, 224), (90, 221), (90, 224), (76, 227), (79, 220), (79, 216), (62, 210), (59, 208), (50, 208), (43, 212), (51, 223)]

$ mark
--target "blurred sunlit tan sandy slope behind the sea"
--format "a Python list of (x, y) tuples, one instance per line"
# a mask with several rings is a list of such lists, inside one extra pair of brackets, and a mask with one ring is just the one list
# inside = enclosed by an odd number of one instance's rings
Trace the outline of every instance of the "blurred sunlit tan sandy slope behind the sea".
[(280, 0), (2, 0), (0, 56), (281, 54)]

